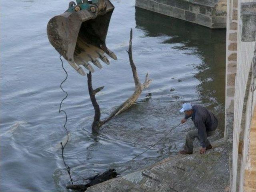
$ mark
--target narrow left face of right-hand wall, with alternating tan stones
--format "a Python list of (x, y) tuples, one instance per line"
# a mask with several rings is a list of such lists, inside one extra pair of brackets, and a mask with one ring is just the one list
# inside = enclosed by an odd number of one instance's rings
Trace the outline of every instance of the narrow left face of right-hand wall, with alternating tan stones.
[[(233, 16), (233, 10), (237, 12), (237, 0), (227, 1), (227, 25), (226, 25), (226, 92), (225, 92), (225, 132), (224, 138), (227, 140), (230, 150), (229, 170), (230, 170), (230, 189), (232, 189), (233, 174), (232, 167), (236, 167), (237, 161), (233, 162), (233, 126), (234, 126), (234, 95), (236, 78), (236, 58), (237, 58), (237, 16)], [(238, 148), (234, 149), (235, 151)], [(238, 152), (237, 152), (238, 154)], [(233, 165), (233, 163), (235, 165)], [(231, 190), (232, 191), (232, 190)]]

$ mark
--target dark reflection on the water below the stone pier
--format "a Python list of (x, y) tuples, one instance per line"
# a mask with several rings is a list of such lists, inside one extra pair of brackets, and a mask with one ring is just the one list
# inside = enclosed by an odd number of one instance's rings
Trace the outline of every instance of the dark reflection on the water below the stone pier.
[(200, 82), (196, 91), (202, 103), (218, 114), (224, 128), (226, 30), (212, 30), (141, 8), (135, 8), (135, 20), (136, 28), (143, 30), (145, 36), (168, 36), (162, 43), (188, 50), (187, 54), (191, 52), (202, 60), (194, 65), (198, 70), (194, 77)]

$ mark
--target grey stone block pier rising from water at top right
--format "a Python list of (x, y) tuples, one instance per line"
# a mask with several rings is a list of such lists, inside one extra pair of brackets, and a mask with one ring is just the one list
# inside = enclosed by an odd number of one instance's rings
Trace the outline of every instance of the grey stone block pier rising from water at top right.
[(226, 28), (226, 0), (136, 0), (135, 6), (209, 28)]

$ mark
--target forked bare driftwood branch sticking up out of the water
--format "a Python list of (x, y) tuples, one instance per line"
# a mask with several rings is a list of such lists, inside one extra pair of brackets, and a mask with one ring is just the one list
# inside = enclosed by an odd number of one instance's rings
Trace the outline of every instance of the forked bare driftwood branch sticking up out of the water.
[(133, 79), (134, 79), (134, 84), (135, 84), (134, 93), (125, 102), (123, 102), (120, 106), (118, 106), (118, 108), (116, 108), (106, 119), (104, 119), (102, 121), (100, 121), (100, 107), (96, 101), (95, 94), (97, 92), (99, 92), (100, 90), (102, 90), (104, 87), (100, 87), (100, 88), (93, 90), (92, 74), (91, 74), (91, 72), (89, 74), (87, 74), (89, 94), (90, 94), (92, 105), (93, 105), (94, 111), (95, 111), (94, 122), (92, 123), (93, 130), (97, 130), (100, 126), (102, 126), (103, 124), (108, 122), (114, 116), (117, 116), (118, 114), (120, 114), (120, 113), (124, 112), (125, 110), (127, 110), (128, 108), (130, 108), (136, 102), (136, 100), (140, 96), (142, 90), (145, 88), (148, 88), (150, 82), (152, 81), (148, 78), (148, 73), (147, 73), (144, 83), (143, 84), (140, 83), (140, 79), (138, 77), (136, 66), (132, 59), (132, 29), (130, 31), (129, 49), (127, 52), (129, 55), (130, 66), (132, 68), (132, 74), (133, 74)]

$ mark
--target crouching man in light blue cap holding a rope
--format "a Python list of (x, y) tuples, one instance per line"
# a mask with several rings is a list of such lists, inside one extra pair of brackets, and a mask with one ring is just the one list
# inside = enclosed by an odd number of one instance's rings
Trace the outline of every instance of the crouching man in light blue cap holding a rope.
[(201, 148), (200, 154), (204, 154), (204, 152), (208, 149), (212, 148), (208, 140), (208, 136), (214, 135), (214, 132), (218, 126), (218, 120), (205, 107), (200, 105), (193, 105), (190, 103), (184, 103), (182, 105), (182, 109), (180, 112), (185, 113), (185, 118), (181, 120), (182, 124), (186, 122), (188, 118), (191, 117), (194, 125), (197, 129), (190, 130), (186, 136), (186, 143), (184, 146), (184, 150), (180, 150), (180, 154), (192, 154), (193, 153), (193, 142), (195, 138), (198, 138)]

